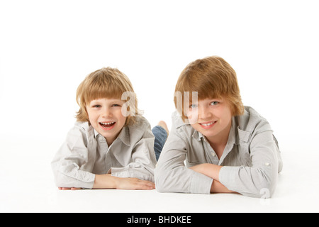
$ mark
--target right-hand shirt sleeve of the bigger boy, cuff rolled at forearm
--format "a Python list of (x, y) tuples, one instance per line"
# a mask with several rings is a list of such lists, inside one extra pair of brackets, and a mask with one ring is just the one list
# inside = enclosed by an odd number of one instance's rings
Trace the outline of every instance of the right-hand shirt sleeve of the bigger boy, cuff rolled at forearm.
[(254, 135), (250, 142), (252, 167), (222, 167), (220, 183), (245, 196), (269, 198), (274, 193), (279, 172), (278, 155), (272, 131)]

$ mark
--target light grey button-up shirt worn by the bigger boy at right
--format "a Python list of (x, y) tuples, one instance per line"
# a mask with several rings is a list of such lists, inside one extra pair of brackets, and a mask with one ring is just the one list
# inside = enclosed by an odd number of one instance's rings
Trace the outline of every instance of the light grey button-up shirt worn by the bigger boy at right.
[(272, 196), (282, 169), (272, 128), (249, 106), (245, 106), (244, 115), (233, 117), (220, 159), (204, 135), (184, 123), (176, 112), (172, 115), (172, 131), (155, 170), (157, 190), (209, 194), (213, 179), (189, 169), (203, 163), (223, 166), (219, 180), (228, 189), (263, 198)]

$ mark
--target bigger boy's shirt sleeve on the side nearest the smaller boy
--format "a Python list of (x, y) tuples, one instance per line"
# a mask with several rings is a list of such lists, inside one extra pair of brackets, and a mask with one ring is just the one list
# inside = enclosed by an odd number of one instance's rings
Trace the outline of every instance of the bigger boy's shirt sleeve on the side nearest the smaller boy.
[(213, 179), (185, 166), (187, 149), (186, 140), (173, 123), (155, 169), (158, 192), (210, 194)]

